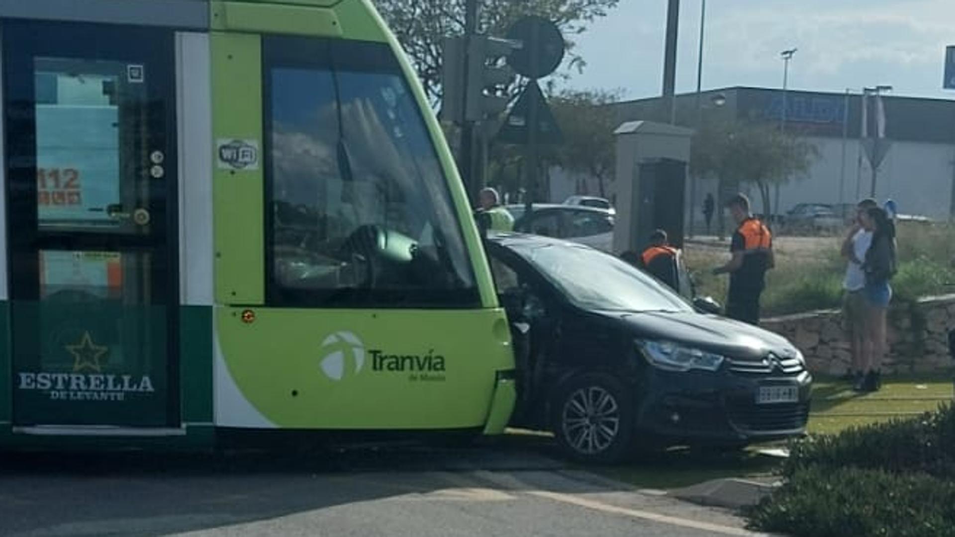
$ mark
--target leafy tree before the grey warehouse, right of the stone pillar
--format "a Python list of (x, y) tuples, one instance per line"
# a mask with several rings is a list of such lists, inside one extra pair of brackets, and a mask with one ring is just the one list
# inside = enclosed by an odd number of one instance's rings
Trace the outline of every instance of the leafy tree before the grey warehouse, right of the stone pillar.
[(817, 147), (778, 127), (741, 121), (704, 123), (693, 137), (690, 172), (715, 175), (720, 183), (753, 183), (763, 213), (772, 215), (770, 186), (804, 176), (818, 157)]

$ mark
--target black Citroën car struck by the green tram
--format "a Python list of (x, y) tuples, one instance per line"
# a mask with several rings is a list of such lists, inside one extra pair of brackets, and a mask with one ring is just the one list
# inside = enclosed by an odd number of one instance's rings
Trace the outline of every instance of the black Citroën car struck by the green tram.
[(590, 247), (517, 233), (486, 245), (515, 333), (513, 426), (553, 431), (585, 462), (804, 433), (812, 376), (785, 338)]

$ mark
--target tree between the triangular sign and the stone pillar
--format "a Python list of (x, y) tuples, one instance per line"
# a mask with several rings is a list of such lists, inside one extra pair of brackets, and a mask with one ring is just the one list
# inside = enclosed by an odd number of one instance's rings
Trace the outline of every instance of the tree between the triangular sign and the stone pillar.
[(603, 90), (565, 90), (550, 98), (563, 135), (562, 145), (551, 149), (552, 160), (565, 170), (596, 178), (602, 198), (606, 198), (606, 183), (613, 180), (616, 168), (613, 131), (619, 125), (610, 104), (619, 97)]

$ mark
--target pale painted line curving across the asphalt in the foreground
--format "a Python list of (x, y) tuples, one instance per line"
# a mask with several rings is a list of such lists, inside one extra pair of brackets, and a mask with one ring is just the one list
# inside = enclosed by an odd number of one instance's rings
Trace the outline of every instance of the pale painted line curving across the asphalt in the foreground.
[(740, 537), (765, 537), (768, 534), (766, 533), (756, 533), (748, 529), (743, 529), (741, 527), (732, 527), (732, 526), (722, 526), (719, 524), (710, 524), (707, 522), (700, 522), (680, 517), (674, 517), (669, 515), (662, 515), (660, 513), (654, 513), (650, 511), (642, 511), (638, 509), (630, 509), (628, 507), (621, 507), (619, 505), (610, 505), (603, 502), (597, 502), (595, 500), (587, 500), (584, 497), (577, 496), (574, 494), (564, 494), (562, 492), (549, 492), (546, 490), (536, 490), (536, 487), (523, 483), (519, 479), (513, 476), (495, 474), (488, 472), (486, 470), (479, 470), (475, 472), (476, 475), (490, 481), (491, 483), (499, 484), (510, 489), (518, 489), (525, 494), (531, 496), (537, 496), (539, 498), (546, 498), (554, 502), (560, 502), (562, 504), (577, 505), (579, 507), (584, 507), (586, 509), (592, 509), (595, 511), (601, 511), (605, 513), (612, 513), (618, 515), (624, 515), (630, 518), (638, 518), (643, 520), (648, 520), (652, 522), (658, 522), (661, 524), (668, 524), (670, 526), (681, 526), (689, 527), (691, 529), (700, 529), (703, 531), (711, 531), (712, 533), (720, 533), (723, 535), (737, 535)]

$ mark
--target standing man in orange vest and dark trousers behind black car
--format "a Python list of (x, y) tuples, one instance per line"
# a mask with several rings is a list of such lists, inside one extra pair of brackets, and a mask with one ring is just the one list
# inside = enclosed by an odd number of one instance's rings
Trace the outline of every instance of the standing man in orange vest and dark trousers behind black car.
[(726, 314), (732, 319), (759, 324), (759, 297), (766, 287), (766, 271), (775, 267), (773, 234), (750, 212), (750, 199), (738, 194), (727, 204), (739, 227), (732, 235), (729, 263), (713, 274), (730, 273)]

